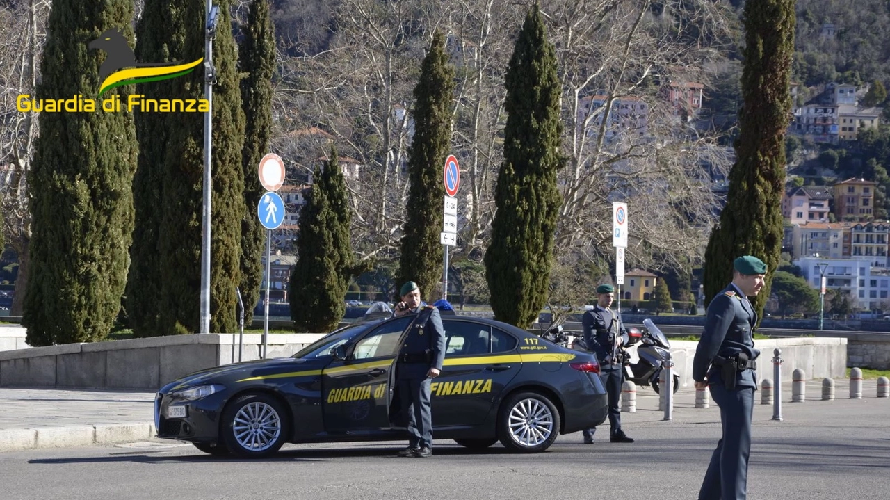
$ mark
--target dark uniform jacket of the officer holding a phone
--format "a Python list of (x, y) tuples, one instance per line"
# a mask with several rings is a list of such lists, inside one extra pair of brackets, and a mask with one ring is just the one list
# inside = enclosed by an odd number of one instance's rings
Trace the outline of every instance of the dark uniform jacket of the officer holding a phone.
[[(417, 319), (411, 325), (405, 343), (399, 351), (399, 376), (402, 378), (425, 378), (430, 368), (442, 369), (445, 361), (445, 329), (439, 310), (431, 305), (421, 304), (411, 311)], [(428, 362), (401, 362), (403, 355), (427, 355)]]

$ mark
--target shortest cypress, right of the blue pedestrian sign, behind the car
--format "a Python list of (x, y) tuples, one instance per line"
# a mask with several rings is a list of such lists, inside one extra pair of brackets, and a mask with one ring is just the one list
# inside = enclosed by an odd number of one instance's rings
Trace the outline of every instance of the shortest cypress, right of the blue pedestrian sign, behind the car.
[[(339, 171), (336, 155), (328, 159), (322, 173), (315, 169), (315, 183), (306, 194), (300, 211), (300, 232), (296, 239), (297, 260), (291, 272), (290, 315), (298, 332), (328, 332), (336, 328), (346, 312), (335, 244), (340, 222), (328, 199), (328, 179)], [(342, 174), (341, 174), (342, 175)]]

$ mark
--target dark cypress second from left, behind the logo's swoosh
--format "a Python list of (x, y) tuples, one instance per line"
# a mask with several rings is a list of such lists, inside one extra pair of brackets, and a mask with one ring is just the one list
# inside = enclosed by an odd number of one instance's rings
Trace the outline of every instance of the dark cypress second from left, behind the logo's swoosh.
[[(136, 24), (136, 60), (174, 62), (184, 58), (183, 11), (171, 9), (170, 0), (146, 0)], [(147, 99), (170, 99), (176, 82), (161, 80), (136, 85)], [(166, 271), (161, 268), (158, 237), (162, 221), (164, 158), (170, 129), (179, 114), (135, 110), (136, 137), (139, 139), (139, 166), (133, 181), (135, 222), (130, 248), (130, 273), (126, 284), (125, 308), (129, 326), (137, 337), (165, 335), (160, 325), (163, 307), (161, 284)]]

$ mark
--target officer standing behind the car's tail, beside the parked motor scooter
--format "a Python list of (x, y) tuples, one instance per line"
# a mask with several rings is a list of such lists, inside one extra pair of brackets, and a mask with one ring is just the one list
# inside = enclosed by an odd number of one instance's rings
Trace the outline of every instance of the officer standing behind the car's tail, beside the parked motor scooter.
[[(594, 351), (596, 358), (600, 360), (600, 378), (606, 387), (609, 398), (609, 426), (611, 434), (609, 440), (613, 443), (632, 443), (634, 440), (627, 437), (621, 430), (621, 370), (624, 360), (621, 357), (619, 346), (627, 344), (627, 330), (621, 323), (618, 315), (609, 309), (615, 298), (615, 288), (609, 284), (596, 287), (597, 301), (593, 310), (588, 310), (581, 318), (584, 327), (584, 342), (587, 343), (587, 351)], [(584, 430), (585, 444), (594, 444), (594, 432), (596, 428)]]

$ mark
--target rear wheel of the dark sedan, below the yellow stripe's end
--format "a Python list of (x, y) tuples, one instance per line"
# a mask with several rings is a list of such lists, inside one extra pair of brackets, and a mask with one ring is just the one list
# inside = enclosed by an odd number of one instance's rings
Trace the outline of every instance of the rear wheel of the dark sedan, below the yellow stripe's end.
[(501, 406), (498, 414), (498, 438), (517, 453), (539, 453), (556, 440), (559, 412), (546, 397), (537, 392), (519, 392)]

